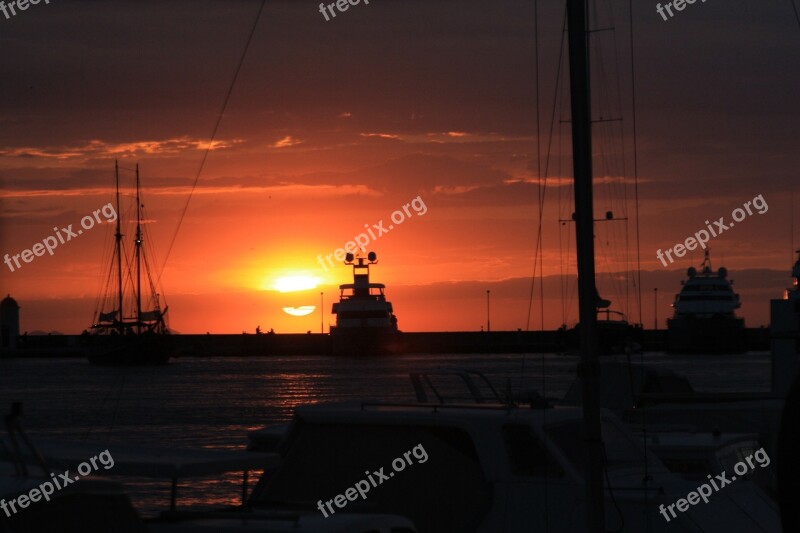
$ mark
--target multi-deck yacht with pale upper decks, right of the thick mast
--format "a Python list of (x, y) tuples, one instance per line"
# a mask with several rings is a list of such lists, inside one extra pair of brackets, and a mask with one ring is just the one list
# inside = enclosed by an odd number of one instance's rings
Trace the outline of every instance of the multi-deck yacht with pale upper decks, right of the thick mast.
[(742, 304), (728, 280), (728, 270), (714, 272), (706, 250), (700, 271), (690, 267), (688, 280), (675, 296), (667, 320), (668, 349), (677, 353), (740, 353), (745, 351), (744, 319), (735, 314)]

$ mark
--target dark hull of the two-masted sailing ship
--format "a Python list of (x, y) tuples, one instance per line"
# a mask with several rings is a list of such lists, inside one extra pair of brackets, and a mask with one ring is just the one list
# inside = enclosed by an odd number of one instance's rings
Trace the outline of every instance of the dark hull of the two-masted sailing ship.
[(169, 335), (94, 335), (88, 339), (86, 355), (98, 366), (159, 366), (173, 354)]

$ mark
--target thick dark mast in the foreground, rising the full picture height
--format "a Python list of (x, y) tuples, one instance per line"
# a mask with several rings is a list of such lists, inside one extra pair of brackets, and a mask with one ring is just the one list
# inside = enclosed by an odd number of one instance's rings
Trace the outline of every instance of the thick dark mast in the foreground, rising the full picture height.
[(586, 443), (587, 531), (605, 531), (603, 443), (600, 430), (597, 362), (597, 291), (594, 270), (594, 206), (592, 205), (592, 125), (587, 43), (586, 0), (567, 0), (572, 166), (575, 179), (575, 232), (584, 440)]

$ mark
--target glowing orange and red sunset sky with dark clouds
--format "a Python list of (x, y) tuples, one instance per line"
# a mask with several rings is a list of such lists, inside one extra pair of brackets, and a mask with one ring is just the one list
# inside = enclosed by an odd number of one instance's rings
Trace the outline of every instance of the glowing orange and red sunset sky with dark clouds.
[[(393, 228), (368, 247), (373, 281), (387, 285), (400, 329), (478, 330), (487, 290), (492, 330), (574, 324), (574, 227), (559, 223), (572, 212), (566, 56), (557, 78), (564, 3), (538, 4), (538, 136), (534, 6), (371, 0), (326, 21), (319, 2), (267, 1), (213, 144), (259, 1), (52, 0), (0, 15), (0, 254), (54, 226), (80, 228), (113, 200), (118, 159), (126, 201), (128, 169), (140, 166), (151, 259), (178, 332), (316, 332), (319, 308), (282, 308), (319, 306), (320, 292), (327, 331), (336, 286), (352, 278), (318, 257), (379, 221)], [(628, 2), (601, 1), (592, 23), (607, 30), (592, 37), (595, 215), (628, 219), (597, 224), (598, 286), (638, 321), (626, 273), (636, 268), (628, 16)], [(665, 327), (703, 258), (665, 268), (656, 251), (762, 195), (764, 214), (710, 246), (746, 324), (768, 324), (800, 243), (791, 4), (698, 2), (664, 21), (655, 2), (637, 1), (633, 24), (641, 319), (653, 326), (657, 287)], [(530, 298), (542, 190), (543, 304), (538, 279)], [(415, 198), (424, 209), (393, 224)], [(14, 272), (0, 264), (23, 331), (91, 324), (112, 232), (84, 230)], [(275, 290), (288, 276), (319, 284)]]

